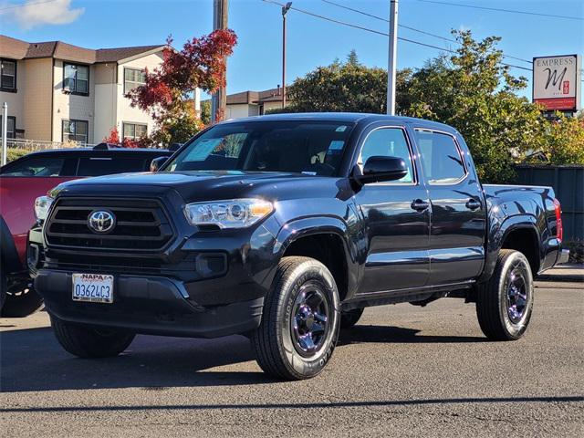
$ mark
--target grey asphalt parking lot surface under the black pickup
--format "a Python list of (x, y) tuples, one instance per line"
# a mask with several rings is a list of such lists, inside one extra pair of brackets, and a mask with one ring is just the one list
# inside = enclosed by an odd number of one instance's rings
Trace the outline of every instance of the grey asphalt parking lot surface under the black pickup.
[(516, 342), (486, 341), (462, 300), (368, 308), (300, 382), (267, 379), (239, 336), (141, 336), (120, 358), (78, 360), (45, 312), (1, 329), (6, 437), (577, 436), (584, 424), (579, 283), (538, 283)]

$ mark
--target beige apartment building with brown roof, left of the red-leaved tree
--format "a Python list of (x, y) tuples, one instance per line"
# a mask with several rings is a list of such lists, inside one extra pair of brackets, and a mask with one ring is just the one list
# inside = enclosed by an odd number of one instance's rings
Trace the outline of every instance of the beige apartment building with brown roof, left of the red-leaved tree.
[(0, 104), (8, 104), (8, 138), (98, 143), (151, 132), (151, 116), (124, 94), (162, 62), (164, 45), (99, 48), (61, 41), (28, 43), (0, 36)]

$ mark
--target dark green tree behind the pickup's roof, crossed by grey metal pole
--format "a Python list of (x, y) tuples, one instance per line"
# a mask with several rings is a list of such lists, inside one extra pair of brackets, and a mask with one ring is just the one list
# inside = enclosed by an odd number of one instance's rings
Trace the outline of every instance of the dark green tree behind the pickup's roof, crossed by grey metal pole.
[[(410, 69), (398, 72), (398, 111), (403, 105), (409, 106), (403, 90), (411, 74)], [(385, 113), (387, 71), (363, 66), (355, 50), (351, 50), (347, 62), (335, 60), (326, 67), (309, 72), (304, 78), (297, 78), (287, 89), (287, 97), (290, 99), (288, 112)]]

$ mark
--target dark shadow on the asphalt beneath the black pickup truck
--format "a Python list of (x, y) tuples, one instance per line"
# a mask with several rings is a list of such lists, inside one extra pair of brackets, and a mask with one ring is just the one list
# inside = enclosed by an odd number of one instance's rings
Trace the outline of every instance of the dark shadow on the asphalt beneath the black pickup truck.
[[(477, 342), (483, 338), (420, 336), (419, 330), (356, 326), (343, 330), (339, 346), (365, 342)], [(243, 336), (182, 339), (138, 336), (120, 357), (81, 360), (57, 343), (51, 328), (0, 334), (0, 391), (57, 391), (135, 388), (157, 391), (177, 386), (222, 386), (275, 383), (259, 368), (205, 371), (255, 360)]]

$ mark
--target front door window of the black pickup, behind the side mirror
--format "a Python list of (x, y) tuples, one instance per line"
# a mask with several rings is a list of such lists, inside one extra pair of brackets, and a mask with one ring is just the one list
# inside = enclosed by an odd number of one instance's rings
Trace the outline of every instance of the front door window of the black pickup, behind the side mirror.
[(382, 128), (371, 131), (365, 143), (363, 143), (357, 163), (362, 167), (373, 156), (399, 157), (403, 159), (408, 168), (408, 173), (395, 183), (413, 183), (412, 154), (403, 130), (399, 128)]

